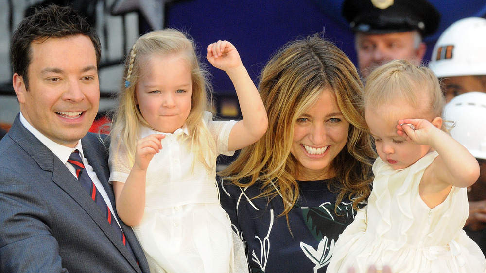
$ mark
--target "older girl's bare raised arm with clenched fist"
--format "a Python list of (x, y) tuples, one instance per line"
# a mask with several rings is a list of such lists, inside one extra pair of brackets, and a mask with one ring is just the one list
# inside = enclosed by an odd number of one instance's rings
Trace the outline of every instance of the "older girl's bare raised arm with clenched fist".
[(243, 120), (229, 134), (228, 150), (238, 150), (259, 140), (267, 130), (268, 118), (255, 84), (251, 80), (236, 48), (228, 41), (208, 46), (207, 59), (214, 67), (226, 71), (235, 86)]

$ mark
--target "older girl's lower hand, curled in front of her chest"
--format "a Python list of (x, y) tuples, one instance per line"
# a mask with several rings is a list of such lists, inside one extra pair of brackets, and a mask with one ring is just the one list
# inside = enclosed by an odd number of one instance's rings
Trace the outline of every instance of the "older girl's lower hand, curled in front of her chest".
[(165, 135), (162, 134), (153, 134), (137, 141), (133, 168), (146, 170), (154, 155), (162, 149), (160, 140), (164, 137)]

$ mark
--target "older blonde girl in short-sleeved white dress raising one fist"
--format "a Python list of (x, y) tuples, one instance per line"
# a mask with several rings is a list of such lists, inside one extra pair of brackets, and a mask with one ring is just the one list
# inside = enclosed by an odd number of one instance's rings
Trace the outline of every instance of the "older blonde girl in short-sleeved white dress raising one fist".
[(218, 41), (207, 52), (233, 81), (243, 120), (213, 121), (205, 111), (206, 72), (193, 42), (177, 30), (139, 37), (125, 65), (110, 181), (118, 215), (133, 227), (152, 272), (248, 270), (219, 203), (215, 161), (257, 141), (267, 116), (235, 47)]

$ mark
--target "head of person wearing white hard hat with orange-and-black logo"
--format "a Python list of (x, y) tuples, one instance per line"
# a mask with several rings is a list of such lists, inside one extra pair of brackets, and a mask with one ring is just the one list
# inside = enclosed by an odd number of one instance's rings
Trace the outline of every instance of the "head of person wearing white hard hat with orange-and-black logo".
[(444, 96), (486, 92), (486, 19), (464, 18), (439, 37), (429, 67), (442, 80)]

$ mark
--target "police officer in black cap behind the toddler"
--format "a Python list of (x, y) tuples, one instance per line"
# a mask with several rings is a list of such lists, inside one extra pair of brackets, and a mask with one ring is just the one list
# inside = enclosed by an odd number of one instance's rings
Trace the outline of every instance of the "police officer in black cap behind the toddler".
[(420, 64), (440, 14), (427, 0), (345, 0), (343, 16), (355, 32), (358, 67), (366, 78), (384, 63), (406, 59)]

